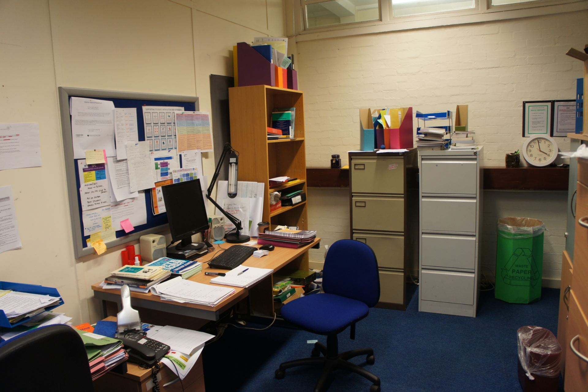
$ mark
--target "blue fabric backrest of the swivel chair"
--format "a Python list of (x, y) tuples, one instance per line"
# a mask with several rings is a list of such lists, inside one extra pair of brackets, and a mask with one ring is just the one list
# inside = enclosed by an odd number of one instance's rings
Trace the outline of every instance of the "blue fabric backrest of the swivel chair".
[(380, 299), (380, 278), (372, 248), (355, 240), (329, 247), (323, 266), (323, 291), (362, 301), (373, 307)]

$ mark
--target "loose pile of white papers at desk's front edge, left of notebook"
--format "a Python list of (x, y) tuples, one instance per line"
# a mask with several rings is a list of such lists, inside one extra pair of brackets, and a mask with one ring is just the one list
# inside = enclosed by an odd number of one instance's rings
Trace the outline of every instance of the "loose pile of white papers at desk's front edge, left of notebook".
[(234, 288), (218, 287), (176, 277), (151, 287), (162, 300), (215, 306), (235, 293)]

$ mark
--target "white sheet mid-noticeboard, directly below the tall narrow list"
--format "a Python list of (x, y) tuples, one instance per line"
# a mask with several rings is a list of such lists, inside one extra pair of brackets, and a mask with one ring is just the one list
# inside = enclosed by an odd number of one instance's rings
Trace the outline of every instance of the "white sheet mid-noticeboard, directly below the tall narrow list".
[(126, 144), (126, 163), (129, 165), (129, 190), (151, 189), (155, 184), (155, 172), (146, 141)]

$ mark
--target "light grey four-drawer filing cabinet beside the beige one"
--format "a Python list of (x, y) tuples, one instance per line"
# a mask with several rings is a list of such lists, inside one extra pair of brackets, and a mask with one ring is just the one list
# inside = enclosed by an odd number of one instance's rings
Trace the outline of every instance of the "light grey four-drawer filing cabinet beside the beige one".
[(419, 311), (476, 317), (482, 148), (419, 151)]

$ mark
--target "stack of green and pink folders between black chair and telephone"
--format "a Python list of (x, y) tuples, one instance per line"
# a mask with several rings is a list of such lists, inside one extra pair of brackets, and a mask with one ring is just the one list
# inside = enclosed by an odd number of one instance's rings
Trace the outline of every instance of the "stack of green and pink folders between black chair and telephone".
[(77, 329), (75, 331), (82, 337), (86, 347), (92, 380), (96, 380), (129, 357), (118, 339)]

